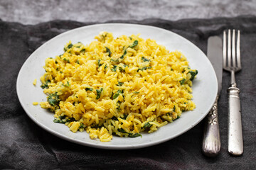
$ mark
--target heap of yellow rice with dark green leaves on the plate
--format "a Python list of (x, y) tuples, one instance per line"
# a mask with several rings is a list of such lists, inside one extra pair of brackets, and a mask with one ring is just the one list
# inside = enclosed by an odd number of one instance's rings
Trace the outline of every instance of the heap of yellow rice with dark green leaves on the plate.
[(68, 42), (63, 55), (46, 59), (41, 87), (48, 101), (40, 105), (55, 113), (55, 123), (108, 142), (154, 132), (196, 107), (197, 71), (181, 52), (139, 35), (102, 32), (95, 39)]

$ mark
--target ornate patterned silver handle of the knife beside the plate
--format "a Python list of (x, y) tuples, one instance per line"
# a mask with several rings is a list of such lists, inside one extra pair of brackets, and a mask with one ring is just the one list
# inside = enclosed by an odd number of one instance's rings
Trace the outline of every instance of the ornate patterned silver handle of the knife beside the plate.
[(220, 130), (218, 125), (218, 96), (207, 115), (203, 132), (203, 154), (215, 157), (220, 152)]

